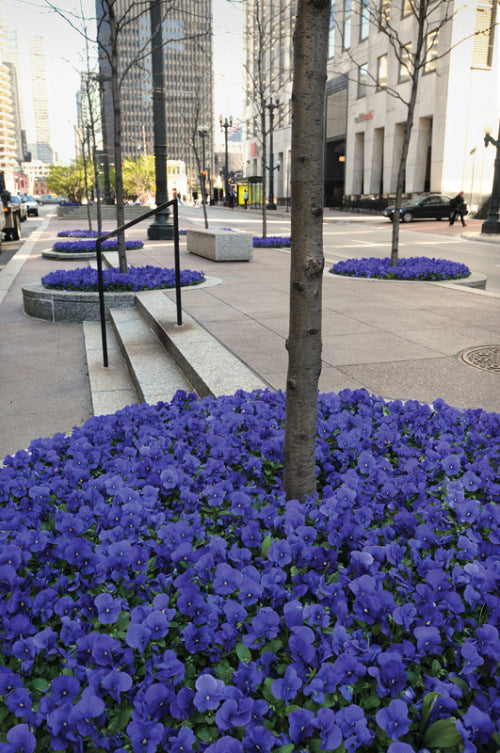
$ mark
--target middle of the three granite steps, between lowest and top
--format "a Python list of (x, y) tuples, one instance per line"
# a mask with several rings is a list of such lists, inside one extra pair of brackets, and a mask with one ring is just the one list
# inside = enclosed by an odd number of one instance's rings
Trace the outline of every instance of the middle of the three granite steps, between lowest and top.
[(136, 308), (109, 313), (140, 402), (155, 404), (171, 400), (177, 390), (195, 391)]

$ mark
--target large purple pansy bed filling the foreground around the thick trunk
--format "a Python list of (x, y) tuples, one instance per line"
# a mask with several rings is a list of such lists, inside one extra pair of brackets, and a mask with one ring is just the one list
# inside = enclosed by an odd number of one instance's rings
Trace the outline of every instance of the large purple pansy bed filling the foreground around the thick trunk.
[(0, 749), (493, 753), (500, 417), (179, 392), (0, 468)]

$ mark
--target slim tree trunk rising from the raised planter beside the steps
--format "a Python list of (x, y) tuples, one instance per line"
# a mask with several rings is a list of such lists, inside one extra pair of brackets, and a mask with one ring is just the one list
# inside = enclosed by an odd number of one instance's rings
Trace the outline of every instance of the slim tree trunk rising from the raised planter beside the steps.
[[(116, 196), (116, 225), (125, 224), (125, 207), (123, 205), (123, 170), (122, 170), (122, 110), (120, 104), (120, 87), (118, 83), (118, 50), (116, 18), (114, 9), (109, 4), (109, 29), (111, 39), (111, 98), (113, 102), (113, 147), (115, 157), (115, 196)], [(127, 255), (125, 251), (125, 233), (117, 235), (118, 262), (120, 272), (128, 272)]]

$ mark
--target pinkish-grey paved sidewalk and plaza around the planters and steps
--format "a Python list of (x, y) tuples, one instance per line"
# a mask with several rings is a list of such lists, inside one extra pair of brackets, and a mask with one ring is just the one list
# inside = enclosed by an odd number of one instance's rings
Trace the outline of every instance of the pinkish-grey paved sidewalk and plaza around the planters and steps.
[[(188, 225), (181, 214), (181, 227)], [(82, 325), (44, 322), (23, 311), (23, 285), (52, 269), (84, 264), (41, 257), (61, 227), (58, 220), (42, 223), (0, 272), (0, 458), (37, 437), (70, 431), (91, 415)], [(145, 226), (130, 233), (145, 236)], [(172, 244), (148, 242), (130, 252), (129, 261), (173, 266)], [(182, 242), (181, 266), (204, 270), (214, 283), (184, 290), (183, 308), (271, 387), (283, 389), (289, 252), (254, 249), (250, 263), (215, 263), (188, 254)], [(499, 372), (458, 357), (500, 342), (499, 295), (449, 283), (325, 273), (323, 309), (322, 391), (365, 387), (386, 398), (441, 397), (459, 408), (500, 412)]]

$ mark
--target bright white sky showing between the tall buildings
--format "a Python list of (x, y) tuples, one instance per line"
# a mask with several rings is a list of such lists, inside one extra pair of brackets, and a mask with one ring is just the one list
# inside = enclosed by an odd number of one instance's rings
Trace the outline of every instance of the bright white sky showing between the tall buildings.
[[(95, 15), (95, 0), (54, 0), (53, 4), (69, 17), (73, 14), (81, 19), (79, 7), (87, 19)], [(213, 9), (214, 118), (218, 123), (219, 115), (235, 118), (243, 111), (242, 2), (213, 0)], [(7, 30), (18, 31), (20, 40), (34, 33), (44, 37), (53, 146), (59, 159), (68, 162), (75, 156), (73, 127), (79, 71), (87, 68), (84, 38), (50, 9), (47, 0), (3, 0), (3, 22)], [(29, 122), (26, 127), (29, 132)]]

